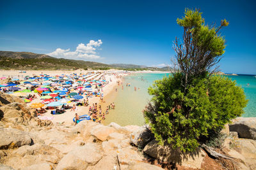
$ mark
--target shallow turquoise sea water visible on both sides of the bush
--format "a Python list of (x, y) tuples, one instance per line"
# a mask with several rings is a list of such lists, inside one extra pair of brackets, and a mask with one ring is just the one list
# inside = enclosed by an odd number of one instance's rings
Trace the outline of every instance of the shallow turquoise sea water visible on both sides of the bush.
[[(139, 73), (131, 74), (123, 78), (123, 86), (118, 85), (115, 99), (115, 110), (110, 110), (104, 124), (116, 122), (119, 125), (143, 125), (143, 109), (150, 101), (148, 87), (152, 86), (155, 80), (160, 80), (168, 73)], [(244, 108), (242, 117), (256, 117), (256, 76), (238, 74), (237, 76), (227, 75), (238, 86), (244, 89), (248, 104)], [(134, 90), (136, 87), (136, 91)]]

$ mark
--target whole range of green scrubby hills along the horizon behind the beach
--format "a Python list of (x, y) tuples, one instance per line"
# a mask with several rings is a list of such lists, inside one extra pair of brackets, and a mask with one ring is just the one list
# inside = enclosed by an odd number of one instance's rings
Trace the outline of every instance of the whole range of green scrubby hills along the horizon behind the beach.
[(125, 69), (168, 71), (168, 69), (135, 64), (102, 64), (84, 60), (57, 59), (46, 54), (0, 51), (0, 69)]

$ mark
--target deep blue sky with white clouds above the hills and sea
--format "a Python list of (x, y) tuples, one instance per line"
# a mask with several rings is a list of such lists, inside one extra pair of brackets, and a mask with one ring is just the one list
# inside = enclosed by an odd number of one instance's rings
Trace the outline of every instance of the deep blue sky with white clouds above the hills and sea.
[(177, 18), (199, 8), (205, 24), (230, 22), (221, 31), (227, 46), (225, 73), (256, 74), (256, 1), (3, 1), (0, 50), (106, 64), (167, 66)]

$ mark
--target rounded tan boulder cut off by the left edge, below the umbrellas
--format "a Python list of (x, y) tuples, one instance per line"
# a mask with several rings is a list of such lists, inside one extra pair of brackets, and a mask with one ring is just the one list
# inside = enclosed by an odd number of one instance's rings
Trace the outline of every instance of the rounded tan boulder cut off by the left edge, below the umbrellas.
[(12, 128), (0, 129), (0, 139), (0, 149), (17, 148), (33, 144), (33, 140), (27, 132)]

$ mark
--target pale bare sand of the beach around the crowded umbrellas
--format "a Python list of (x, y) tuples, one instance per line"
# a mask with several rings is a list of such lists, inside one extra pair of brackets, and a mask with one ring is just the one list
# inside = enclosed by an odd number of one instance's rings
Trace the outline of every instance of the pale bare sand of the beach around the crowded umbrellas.
[[(119, 76), (124, 76), (125, 74), (122, 74), (122, 71), (119, 71), (120, 73), (118, 73), (118, 71), (115, 71), (115, 74), (111, 73), (111, 72), (104, 72), (104, 71), (81, 71), (81, 70), (76, 70), (76, 71), (26, 71), (26, 73), (19, 73), (19, 71), (6, 71), (6, 70), (1, 70), (0, 71), (0, 77), (6, 77), (6, 78), (19, 78), (20, 81), (22, 81), (26, 76), (39, 76), (40, 74), (47, 74), (49, 76), (57, 76), (57, 75), (61, 75), (61, 74), (88, 74), (88, 73), (100, 73), (100, 74), (104, 74), (105, 76), (105, 80), (108, 82), (104, 87), (102, 87), (101, 89), (101, 93), (104, 94), (103, 97), (103, 103), (100, 101), (100, 97), (88, 97), (88, 106), (76, 106), (76, 110), (75, 111), (71, 111), (71, 110), (65, 110), (65, 113), (60, 114), (60, 115), (52, 115), (51, 111), (52, 110), (47, 110), (46, 113), (42, 114), (42, 118), (47, 118), (49, 120), (51, 120), (54, 124), (73, 124), (73, 118), (75, 117), (75, 114), (77, 113), (77, 115), (81, 116), (81, 115), (88, 115), (88, 111), (89, 111), (89, 106), (92, 106), (92, 104), (99, 104), (102, 107), (102, 113), (106, 112), (106, 107), (109, 106), (110, 103), (112, 103), (112, 101), (115, 99), (115, 87), (116, 87), (116, 82), (118, 80), (120, 80), (120, 78), (117, 78)], [(116, 76), (118, 75), (118, 76)], [(3, 83), (4, 80), (1, 80)], [(24, 80), (23, 80), (24, 81)], [(22, 83), (20, 85), (18, 85), (17, 87), (19, 87), (21, 90), (26, 89), (26, 86), (22, 85)], [(71, 92), (78, 92), (78, 90), (74, 90), (71, 89)], [(31, 94), (35, 94), (34, 92), (32, 92)], [(86, 99), (86, 96), (83, 96), (84, 99)], [(83, 99), (81, 99), (81, 101), (83, 101)], [(36, 94), (36, 99), (33, 99), (33, 101), (31, 101), (31, 103), (27, 103), (28, 106), (30, 106), (33, 103), (40, 103), (42, 102), (42, 99), (40, 99), (40, 96), (38, 96), (38, 94)], [(76, 104), (75, 102), (71, 102), (71, 103), (67, 103), (68, 106), (73, 106), (73, 104)], [(44, 107), (45, 108), (45, 107)], [(60, 108), (60, 106), (59, 106)], [(97, 114), (97, 118), (99, 117), (99, 114)], [(105, 118), (108, 118), (108, 115), (105, 116)], [(102, 120), (102, 118), (100, 118)], [(98, 121), (99, 119), (97, 119), (96, 121)], [(92, 120), (90, 120), (92, 121)], [(102, 120), (102, 123), (104, 123), (104, 120)]]

